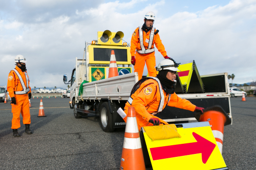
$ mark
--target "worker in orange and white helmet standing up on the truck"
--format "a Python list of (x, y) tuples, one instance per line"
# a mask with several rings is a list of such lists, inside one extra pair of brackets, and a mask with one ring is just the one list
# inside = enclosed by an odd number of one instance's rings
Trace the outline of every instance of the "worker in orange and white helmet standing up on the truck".
[(131, 63), (134, 65), (134, 72), (138, 72), (138, 80), (142, 78), (145, 62), (149, 76), (155, 77), (157, 74), (155, 70), (154, 44), (164, 58), (169, 58), (158, 34), (159, 31), (153, 27), (154, 18), (153, 12), (147, 12), (144, 24), (139, 26), (132, 35)]

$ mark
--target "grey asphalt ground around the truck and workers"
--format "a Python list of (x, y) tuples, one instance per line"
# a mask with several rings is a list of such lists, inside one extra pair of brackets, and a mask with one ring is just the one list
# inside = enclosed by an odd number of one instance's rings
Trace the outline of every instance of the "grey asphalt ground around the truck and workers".
[[(256, 98), (231, 98), (233, 125), (225, 126), (223, 158), (229, 170), (256, 170)], [(99, 118), (75, 119), (69, 99), (43, 99), (47, 117), (38, 118), (40, 99), (31, 99), (31, 129), (11, 130), (11, 105), (0, 102), (0, 169), (119, 170), (124, 129), (102, 131)], [(152, 170), (148, 168), (147, 170)]]

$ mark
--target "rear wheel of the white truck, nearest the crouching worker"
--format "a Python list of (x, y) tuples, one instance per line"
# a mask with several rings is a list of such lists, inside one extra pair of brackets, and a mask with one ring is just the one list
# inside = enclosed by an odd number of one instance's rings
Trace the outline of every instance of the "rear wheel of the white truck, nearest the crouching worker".
[(103, 102), (100, 108), (100, 119), (104, 132), (113, 132), (113, 115), (109, 111), (108, 102)]

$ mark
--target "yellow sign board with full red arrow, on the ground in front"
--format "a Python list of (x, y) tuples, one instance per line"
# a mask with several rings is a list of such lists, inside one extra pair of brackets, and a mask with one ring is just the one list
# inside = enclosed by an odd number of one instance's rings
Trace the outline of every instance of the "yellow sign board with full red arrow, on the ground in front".
[(152, 141), (143, 129), (154, 170), (228, 170), (208, 122), (182, 125), (181, 138), (164, 140)]

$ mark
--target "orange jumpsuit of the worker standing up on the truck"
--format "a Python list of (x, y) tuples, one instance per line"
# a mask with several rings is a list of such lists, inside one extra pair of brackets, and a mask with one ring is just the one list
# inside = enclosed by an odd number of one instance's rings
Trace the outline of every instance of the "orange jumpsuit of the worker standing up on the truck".
[[(154, 30), (154, 32), (155, 31), (156, 30)], [(151, 31), (149, 31), (147, 33), (143, 31), (143, 44), (144, 44), (145, 49), (148, 49), (148, 46), (149, 46), (150, 33), (151, 33)], [(143, 70), (144, 70), (144, 66), (145, 66), (145, 62), (146, 62), (149, 76), (155, 77), (157, 74), (157, 71), (155, 69), (154, 52), (147, 53), (147, 54), (140, 54), (137, 52), (138, 50), (141, 50), (138, 34), (139, 34), (139, 27), (133, 33), (132, 40), (131, 40), (131, 51), (130, 52), (131, 52), (131, 55), (135, 56), (135, 59), (136, 59), (136, 64), (134, 66), (134, 72), (138, 72), (138, 80), (140, 80), (142, 78)], [(158, 49), (158, 51), (161, 52), (161, 54), (164, 57), (167, 56), (165, 47), (160, 39), (159, 34), (154, 35), (154, 39), (153, 39), (153, 43), (152, 43), (152, 47), (151, 47), (152, 49), (154, 49), (154, 44), (155, 44), (156, 48)], [(137, 51), (135, 51), (135, 50), (137, 50)]]

